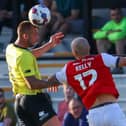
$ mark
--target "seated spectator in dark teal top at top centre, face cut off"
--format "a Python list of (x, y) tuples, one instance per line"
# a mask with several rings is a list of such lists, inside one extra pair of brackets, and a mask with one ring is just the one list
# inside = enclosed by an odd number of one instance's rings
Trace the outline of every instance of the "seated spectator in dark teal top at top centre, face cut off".
[[(74, 30), (72, 32), (77, 32), (80, 20), (82, 21), (82, 0), (54, 0), (52, 10), (56, 17), (52, 32), (57, 30), (65, 33), (72, 30)], [(78, 25), (77, 29), (72, 29), (73, 25)]]

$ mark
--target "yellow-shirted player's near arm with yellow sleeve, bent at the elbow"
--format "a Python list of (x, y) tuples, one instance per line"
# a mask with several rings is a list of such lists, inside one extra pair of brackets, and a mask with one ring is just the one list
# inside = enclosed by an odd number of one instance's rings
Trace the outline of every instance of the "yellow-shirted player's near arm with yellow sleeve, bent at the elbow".
[(35, 61), (33, 60), (33, 56), (31, 54), (29, 55), (29, 53), (23, 55), (20, 63), (18, 64), (18, 70), (29, 89), (42, 89), (58, 85), (57, 81), (50, 82), (44, 79), (41, 80), (41, 75), (36, 75), (37, 70), (34, 68), (34, 66)]

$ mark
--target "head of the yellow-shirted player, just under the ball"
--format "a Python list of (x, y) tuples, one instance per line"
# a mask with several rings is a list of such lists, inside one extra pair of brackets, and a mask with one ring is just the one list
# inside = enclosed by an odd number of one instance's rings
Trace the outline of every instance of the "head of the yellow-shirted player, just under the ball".
[(17, 28), (18, 39), (27, 47), (32, 47), (39, 41), (38, 28), (29, 21), (22, 21)]

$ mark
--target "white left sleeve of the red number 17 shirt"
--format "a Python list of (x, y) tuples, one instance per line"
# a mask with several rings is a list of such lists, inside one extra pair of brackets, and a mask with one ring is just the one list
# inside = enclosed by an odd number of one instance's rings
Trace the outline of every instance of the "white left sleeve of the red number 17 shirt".
[(60, 83), (67, 83), (66, 66), (67, 65), (65, 65), (59, 72), (56, 73), (56, 78)]

